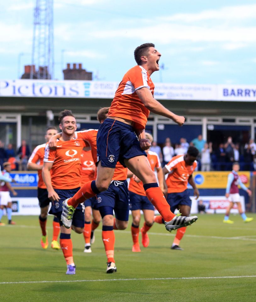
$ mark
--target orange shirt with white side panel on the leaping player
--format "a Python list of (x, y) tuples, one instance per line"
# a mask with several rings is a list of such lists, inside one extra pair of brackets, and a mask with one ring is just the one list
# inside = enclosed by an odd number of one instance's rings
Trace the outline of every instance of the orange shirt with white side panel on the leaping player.
[(128, 70), (120, 82), (109, 108), (109, 117), (121, 117), (134, 122), (135, 129), (145, 129), (149, 110), (138, 97), (136, 90), (142, 87), (150, 89), (154, 97), (154, 84), (142, 66)]

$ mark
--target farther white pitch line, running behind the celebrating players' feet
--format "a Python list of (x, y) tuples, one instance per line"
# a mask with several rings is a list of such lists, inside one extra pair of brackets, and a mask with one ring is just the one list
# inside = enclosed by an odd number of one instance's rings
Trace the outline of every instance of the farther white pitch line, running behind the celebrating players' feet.
[[(15, 227), (18, 226), (20, 228), (28, 228), (28, 229), (38, 229), (39, 226), (36, 225), (12, 225), (9, 227)], [(52, 229), (53, 227), (47, 227), (47, 229)], [(97, 232), (101, 232), (101, 230), (95, 230)], [(130, 231), (124, 231), (124, 230), (115, 230), (118, 233), (123, 234), (131, 234)], [(148, 232), (148, 235), (157, 235), (157, 236), (175, 236), (175, 233), (154, 233), (154, 232)], [(243, 240), (243, 241), (256, 241), (256, 238), (248, 238), (248, 236), (235, 236), (235, 237), (221, 237), (221, 236), (206, 236), (206, 235), (189, 235), (186, 234), (186, 237), (195, 237), (195, 238), (212, 238), (212, 239), (224, 239), (224, 240)]]

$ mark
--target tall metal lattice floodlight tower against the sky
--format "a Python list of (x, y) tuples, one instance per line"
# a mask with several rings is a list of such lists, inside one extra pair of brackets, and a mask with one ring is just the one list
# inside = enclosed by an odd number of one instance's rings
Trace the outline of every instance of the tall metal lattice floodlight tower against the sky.
[(36, 0), (30, 78), (53, 78), (53, 0)]

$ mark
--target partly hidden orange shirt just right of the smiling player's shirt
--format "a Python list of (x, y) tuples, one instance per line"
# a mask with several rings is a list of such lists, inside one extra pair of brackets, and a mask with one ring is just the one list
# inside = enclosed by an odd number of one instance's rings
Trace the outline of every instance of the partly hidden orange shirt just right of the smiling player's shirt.
[(92, 152), (82, 151), (81, 153), (81, 185), (95, 180), (96, 165), (92, 158)]

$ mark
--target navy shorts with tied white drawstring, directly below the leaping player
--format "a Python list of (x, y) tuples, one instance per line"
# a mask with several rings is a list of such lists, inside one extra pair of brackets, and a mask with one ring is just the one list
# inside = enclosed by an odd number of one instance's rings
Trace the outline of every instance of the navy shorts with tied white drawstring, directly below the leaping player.
[[(115, 211), (115, 217), (122, 221), (129, 219), (129, 191), (126, 180), (113, 180), (107, 191), (97, 194), (97, 210), (107, 206)], [(113, 212), (112, 212), (113, 214)]]

